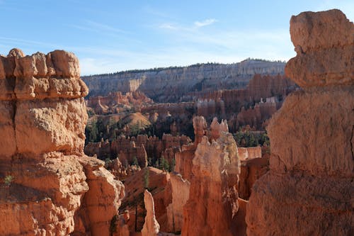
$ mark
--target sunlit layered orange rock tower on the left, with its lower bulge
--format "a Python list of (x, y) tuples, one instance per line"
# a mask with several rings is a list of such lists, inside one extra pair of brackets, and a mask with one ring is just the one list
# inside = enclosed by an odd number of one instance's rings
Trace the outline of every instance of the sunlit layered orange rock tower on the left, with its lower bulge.
[(109, 230), (124, 186), (84, 156), (88, 89), (79, 73), (71, 52), (0, 57), (0, 235)]

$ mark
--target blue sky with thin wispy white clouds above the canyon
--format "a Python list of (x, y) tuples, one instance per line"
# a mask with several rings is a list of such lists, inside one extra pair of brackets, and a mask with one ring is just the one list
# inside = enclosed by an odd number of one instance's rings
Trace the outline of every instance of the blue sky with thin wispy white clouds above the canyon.
[(128, 69), (295, 57), (289, 21), (353, 0), (0, 0), (0, 54), (67, 50), (81, 75)]

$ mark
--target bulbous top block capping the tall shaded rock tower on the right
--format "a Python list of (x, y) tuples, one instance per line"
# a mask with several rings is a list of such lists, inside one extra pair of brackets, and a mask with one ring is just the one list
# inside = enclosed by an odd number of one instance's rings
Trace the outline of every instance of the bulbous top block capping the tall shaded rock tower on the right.
[(341, 11), (292, 16), (290, 34), (297, 56), (285, 72), (299, 86), (354, 84), (353, 23)]

